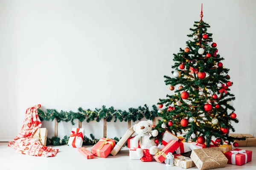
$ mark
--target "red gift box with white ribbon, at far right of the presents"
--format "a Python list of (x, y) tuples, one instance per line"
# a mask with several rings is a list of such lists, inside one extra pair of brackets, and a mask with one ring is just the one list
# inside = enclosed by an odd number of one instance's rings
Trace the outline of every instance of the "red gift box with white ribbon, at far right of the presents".
[(253, 152), (250, 150), (233, 149), (224, 153), (228, 159), (228, 164), (243, 165), (252, 161)]

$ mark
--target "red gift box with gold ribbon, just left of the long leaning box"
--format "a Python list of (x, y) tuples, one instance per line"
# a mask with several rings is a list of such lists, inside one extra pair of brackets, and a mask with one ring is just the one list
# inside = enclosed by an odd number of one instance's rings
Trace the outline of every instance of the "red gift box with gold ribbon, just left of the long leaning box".
[(91, 153), (93, 153), (94, 156), (107, 158), (115, 145), (115, 140), (110, 138), (102, 138), (92, 147)]

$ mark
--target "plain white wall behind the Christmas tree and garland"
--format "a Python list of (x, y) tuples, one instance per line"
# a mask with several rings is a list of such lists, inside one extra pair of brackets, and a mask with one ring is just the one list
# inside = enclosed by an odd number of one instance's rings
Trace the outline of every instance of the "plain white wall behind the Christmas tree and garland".
[[(171, 94), (163, 75), (200, 20), (202, 0), (1, 0), (0, 140), (16, 136), (26, 108), (127, 109)], [(204, 21), (230, 68), (239, 133), (256, 133), (254, 0), (203, 1)], [(86, 134), (102, 137), (102, 123)], [(98, 127), (97, 127), (97, 126)], [(44, 122), (53, 136), (53, 122)], [(59, 135), (70, 133), (59, 125)], [(117, 128), (118, 127), (118, 128)], [(121, 128), (120, 128), (121, 127)], [(127, 124), (110, 123), (108, 136)], [(6, 130), (8, 128), (8, 130)], [(98, 131), (100, 133), (98, 133)]]

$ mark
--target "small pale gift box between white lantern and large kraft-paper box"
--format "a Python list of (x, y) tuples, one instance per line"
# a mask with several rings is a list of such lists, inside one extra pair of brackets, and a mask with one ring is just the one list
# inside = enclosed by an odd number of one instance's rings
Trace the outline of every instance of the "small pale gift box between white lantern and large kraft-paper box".
[(174, 154), (174, 165), (185, 169), (195, 167), (195, 163), (191, 158), (182, 156), (180, 154)]

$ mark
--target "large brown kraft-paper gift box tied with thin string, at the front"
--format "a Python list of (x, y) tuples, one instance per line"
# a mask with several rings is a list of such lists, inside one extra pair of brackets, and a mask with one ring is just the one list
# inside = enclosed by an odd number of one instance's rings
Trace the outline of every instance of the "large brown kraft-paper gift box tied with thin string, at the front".
[(218, 147), (194, 149), (190, 157), (199, 170), (225, 167), (228, 161)]

